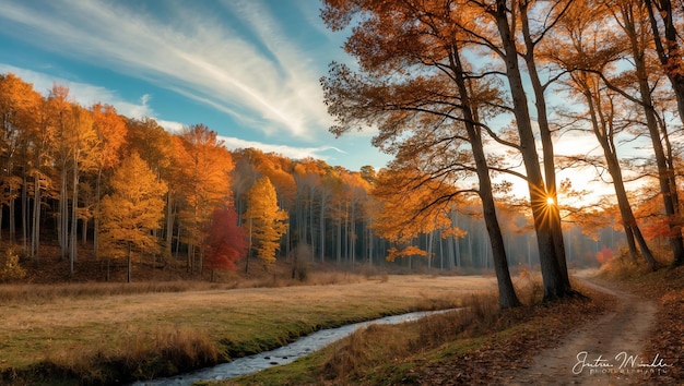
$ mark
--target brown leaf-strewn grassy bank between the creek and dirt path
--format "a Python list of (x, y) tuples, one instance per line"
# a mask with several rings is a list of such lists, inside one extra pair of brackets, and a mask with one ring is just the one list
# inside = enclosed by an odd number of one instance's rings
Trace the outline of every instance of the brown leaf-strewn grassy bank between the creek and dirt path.
[(526, 272), (515, 282), (528, 305), (502, 311), (496, 292), (475, 291), (462, 298), (462, 311), (397, 326), (374, 325), (292, 365), (225, 384), (417, 385), (432, 384), (431, 379), (435, 384), (486, 384), (476, 378), (476, 369), (500, 369), (502, 363), (551, 345), (570, 326), (600, 313), (599, 303), (604, 304), (603, 300), (567, 300), (539, 306), (534, 304), (543, 294), (541, 278)]

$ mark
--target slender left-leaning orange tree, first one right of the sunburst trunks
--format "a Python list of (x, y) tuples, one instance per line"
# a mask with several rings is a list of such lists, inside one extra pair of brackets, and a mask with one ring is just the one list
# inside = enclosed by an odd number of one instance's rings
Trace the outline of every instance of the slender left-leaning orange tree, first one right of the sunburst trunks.
[(576, 4), (557, 28), (546, 55), (568, 71), (570, 91), (581, 96), (579, 101), (587, 107), (579, 120), (588, 123), (603, 150), (602, 159), (588, 159), (583, 155), (579, 157), (592, 165), (605, 165), (615, 189), (629, 253), (636, 260), (638, 243), (644, 258), (652, 267), (654, 257), (629, 204), (617, 154), (618, 138), (627, 132), (630, 122), (638, 119), (628, 113), (630, 109), (624, 98), (611, 91), (600, 76), (614, 71), (613, 63), (618, 60), (624, 46), (614, 33), (598, 27), (606, 23), (606, 17), (610, 17), (610, 12), (602, 4)]

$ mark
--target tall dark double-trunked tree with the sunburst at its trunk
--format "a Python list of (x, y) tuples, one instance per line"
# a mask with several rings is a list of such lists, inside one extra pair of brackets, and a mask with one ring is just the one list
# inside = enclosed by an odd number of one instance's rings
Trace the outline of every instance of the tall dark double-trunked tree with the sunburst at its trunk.
[[(549, 165), (543, 171), (536, 149), (535, 130), (532, 121), (532, 113), (528, 94), (526, 92), (524, 70), (533, 85), (534, 100), (538, 107), (538, 118), (546, 118), (544, 91), (545, 87), (539, 80), (534, 61), (534, 49), (541, 39), (553, 28), (556, 15), (562, 16), (564, 12), (549, 12), (543, 8), (531, 10), (532, 4), (565, 4), (567, 1), (543, 2), (543, 1), (516, 1), (516, 0), (465, 0), (456, 2), (455, 8), (465, 12), (470, 10), (473, 16), (459, 23), (470, 35), (471, 40), (479, 44), (483, 49), (482, 57), (497, 58), (498, 61), (492, 63), (487, 74), (500, 76), (508, 85), (508, 96), (511, 101), (510, 112), (512, 113), (516, 128), (515, 148), (520, 153), (524, 167), (524, 179), (528, 184), (530, 206), (534, 219), (536, 233), (536, 245), (540, 253), (540, 266), (543, 277), (544, 300), (553, 300), (575, 294), (571, 289), (565, 252), (563, 245), (563, 233), (561, 231), (559, 213), (556, 207), (555, 176), (550, 176), (549, 181), (544, 180), (544, 174), (554, 174), (553, 149), (550, 147), (549, 128), (540, 126), (542, 137), (543, 161)], [(539, 14), (541, 25), (536, 36), (532, 36), (529, 21), (526, 19), (530, 14)], [(527, 49), (522, 50), (520, 47)], [(520, 62), (520, 57), (526, 61), (526, 65)], [(498, 65), (497, 65), (498, 64)], [(541, 112), (541, 116), (539, 114)], [(553, 181), (552, 181), (553, 180)]]

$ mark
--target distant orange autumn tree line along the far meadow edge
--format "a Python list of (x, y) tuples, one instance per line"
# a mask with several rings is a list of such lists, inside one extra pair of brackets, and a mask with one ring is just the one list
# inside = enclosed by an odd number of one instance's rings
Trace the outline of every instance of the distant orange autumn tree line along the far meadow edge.
[[(45, 258), (40, 246), (57, 243), (70, 263), (66, 275), (90, 257), (79, 257), (79, 245), (107, 262), (107, 277), (110, 262), (126, 262), (128, 280), (141, 254), (160, 267), (185, 261), (190, 273), (236, 269), (238, 261), (248, 269), (247, 255), (299, 264), (399, 258), (394, 264), (409, 267), (492, 268), (493, 251), (472, 201), (445, 212), (440, 227), (405, 221), (420, 195), (392, 202), (387, 193), (400, 186), (389, 169), (350, 171), (253, 148), (229, 152), (203, 124), (169, 133), (114, 106), (85, 108), (63, 86), (42, 95), (13, 74), (0, 75), (0, 238), (36, 265)], [(539, 264), (529, 220), (506, 207), (511, 264)], [(567, 230), (579, 234), (578, 264), (590, 264), (599, 245), (614, 248), (578, 229)]]

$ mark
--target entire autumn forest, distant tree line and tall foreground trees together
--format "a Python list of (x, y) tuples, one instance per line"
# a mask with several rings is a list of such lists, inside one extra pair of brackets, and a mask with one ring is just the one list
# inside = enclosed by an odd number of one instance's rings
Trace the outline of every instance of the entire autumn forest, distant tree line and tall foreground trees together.
[[(253, 258), (492, 268), (505, 287), (510, 266), (567, 281), (568, 266), (625, 245), (680, 265), (684, 93), (668, 3), (326, 2), (333, 31), (361, 17), (345, 45), (357, 68), (321, 77), (330, 131), (375, 128), (394, 156), (378, 171), (228, 150), (201, 123), (168, 132), (3, 74), (5, 270), (39, 265), (46, 243), (66, 277), (92, 258), (125, 262), (129, 281), (145, 256), (191, 274)], [(555, 154), (575, 133), (601, 152)], [(614, 195), (556, 181), (587, 169)], [(554, 286), (550, 298), (569, 291)]]

